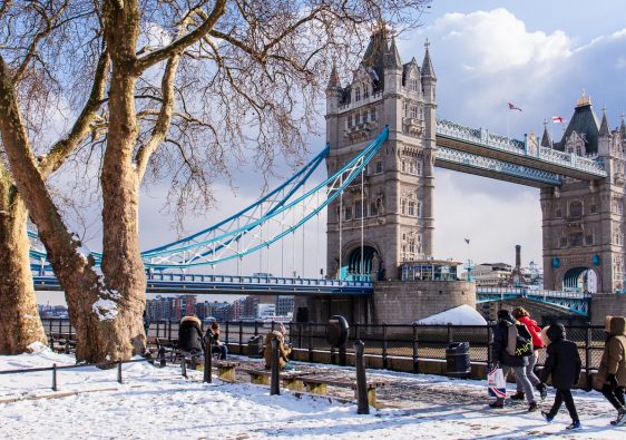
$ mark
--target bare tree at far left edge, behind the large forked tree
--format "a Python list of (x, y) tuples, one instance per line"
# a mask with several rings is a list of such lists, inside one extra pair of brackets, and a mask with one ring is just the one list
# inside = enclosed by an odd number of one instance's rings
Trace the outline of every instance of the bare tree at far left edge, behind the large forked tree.
[[(45, 120), (51, 116), (51, 109), (58, 104), (67, 81), (60, 81), (55, 66), (56, 60), (68, 67), (80, 67), (90, 74), (91, 90), (72, 85), (75, 91), (84, 101), (82, 111), (76, 123), (57, 141), (52, 143), (45, 156), (36, 160), (38, 174), (42, 179), (56, 172), (71, 154), (71, 151), (88, 136), (90, 125), (95, 120), (96, 111), (101, 105), (105, 94), (108, 56), (92, 53), (88, 40), (76, 38), (77, 32), (84, 32), (86, 18), (94, 17), (96, 11), (88, 4), (77, 8), (69, 1), (6, 1), (0, 8), (0, 20), (7, 23), (0, 32), (0, 48), (7, 52), (10, 67), (4, 70), (2, 60), (2, 81), (11, 84), (19, 91), (20, 101), (25, 102), (27, 117), (21, 120), (22, 129), (31, 139), (42, 141), (39, 149), (29, 151), (46, 151), (43, 146), (48, 140), (45, 135)], [(92, 20), (87, 20), (94, 26)], [(71, 22), (69, 28), (67, 23)], [(97, 29), (97, 28), (96, 28)], [(99, 31), (88, 32), (96, 38)], [(63, 38), (74, 38), (72, 45), (59, 45)], [(57, 40), (55, 43), (53, 41)], [(92, 42), (92, 41), (91, 41)], [(46, 48), (41, 48), (47, 43)], [(84, 46), (85, 45), (85, 46)], [(88, 49), (86, 57), (78, 57), (80, 46)], [(69, 51), (68, 51), (69, 50)], [(80, 61), (78, 61), (80, 59)], [(74, 60), (74, 61), (72, 61)], [(65, 85), (63, 85), (65, 82)], [(2, 94), (3, 95), (3, 94)], [(72, 94), (66, 94), (70, 99)], [(4, 101), (2, 96), (2, 101)], [(16, 98), (17, 99), (17, 98)], [(4, 143), (0, 143), (0, 353), (14, 354), (28, 350), (33, 342), (47, 344), (46, 333), (39, 319), (32, 276), (30, 270), (27, 236), (26, 205), (17, 190), (17, 186), (9, 172), (8, 157), (4, 154)]]

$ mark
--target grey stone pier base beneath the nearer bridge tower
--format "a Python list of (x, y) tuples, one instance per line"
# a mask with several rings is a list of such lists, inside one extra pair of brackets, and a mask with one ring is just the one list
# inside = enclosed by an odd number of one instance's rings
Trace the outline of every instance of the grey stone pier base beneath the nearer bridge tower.
[(381, 281), (374, 283), (372, 302), (374, 324), (410, 324), (462, 304), (476, 307), (476, 284)]

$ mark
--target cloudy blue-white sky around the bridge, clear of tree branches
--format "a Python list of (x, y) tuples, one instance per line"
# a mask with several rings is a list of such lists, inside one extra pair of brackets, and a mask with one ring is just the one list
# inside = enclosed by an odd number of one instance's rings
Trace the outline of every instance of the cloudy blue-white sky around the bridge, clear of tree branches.
[[(584, 0), (453, 1), (434, 0), (423, 26), (403, 33), (399, 47), (404, 62), (421, 63), (428, 38), (438, 76), (438, 115), (460, 124), (485, 127), (522, 138), (540, 135), (545, 118), (573, 114), (581, 89), (591, 96), (595, 111), (607, 108), (610, 126), (626, 108), (626, 25), (623, 1), (601, 7)], [(342, 72), (343, 81), (350, 72)], [(524, 111), (509, 113), (507, 101)], [(507, 123), (507, 119), (509, 121)], [(323, 118), (320, 117), (323, 133)], [(564, 126), (549, 125), (560, 139)], [(309, 150), (323, 146), (312, 138)], [(436, 255), (442, 258), (512, 263), (513, 246), (522, 246), (522, 264), (541, 263), (541, 213), (538, 189), (436, 169)], [(278, 176), (288, 176), (286, 166)], [(325, 175), (319, 174), (319, 182)], [(246, 206), (260, 195), (261, 174), (235, 170), (234, 186), (216, 187), (216, 206), (202, 216), (188, 216), (195, 232)], [(278, 182), (277, 179), (274, 182)], [(163, 213), (163, 192), (145, 190), (141, 199), (141, 243), (149, 248), (177, 238)], [(272, 272), (315, 276), (325, 264), (325, 218), (309, 224), (295, 241), (243, 262), (218, 266), (218, 273)], [(92, 232), (94, 233), (94, 232)], [(97, 233), (94, 235), (98, 235)], [(468, 247), (463, 237), (471, 239)], [(306, 257), (302, 257), (302, 243)], [(98, 243), (91, 243), (99, 248)], [(291, 250), (291, 251), (290, 251)], [(281, 257), (281, 251), (286, 257)], [(295, 256), (294, 256), (295, 255)]]

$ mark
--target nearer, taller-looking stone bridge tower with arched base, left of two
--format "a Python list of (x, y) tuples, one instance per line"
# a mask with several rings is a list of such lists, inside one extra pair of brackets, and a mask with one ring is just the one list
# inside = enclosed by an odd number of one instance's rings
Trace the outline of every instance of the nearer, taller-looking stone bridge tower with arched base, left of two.
[(329, 175), (387, 126), (389, 140), (364, 176), (327, 211), (329, 277), (398, 280), (404, 261), (432, 255), (437, 77), (428, 42), (422, 66), (402, 63), (384, 29), (370, 43), (352, 81), (333, 68), (326, 88)]

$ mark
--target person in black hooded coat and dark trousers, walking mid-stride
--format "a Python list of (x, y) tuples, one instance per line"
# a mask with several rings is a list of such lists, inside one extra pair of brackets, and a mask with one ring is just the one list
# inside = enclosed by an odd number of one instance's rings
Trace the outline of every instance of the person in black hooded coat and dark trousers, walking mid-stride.
[(571, 417), (571, 424), (567, 429), (578, 429), (580, 421), (571, 397), (571, 388), (578, 383), (580, 377), (581, 362), (578, 348), (566, 339), (565, 327), (561, 324), (550, 325), (547, 335), (551, 343), (548, 345), (548, 359), (544, 370), (539, 373), (539, 379), (541, 382), (546, 382), (551, 375), (552, 387), (557, 392), (550, 411), (541, 411), (541, 414), (548, 422), (551, 422), (565, 402), (569, 417)]

